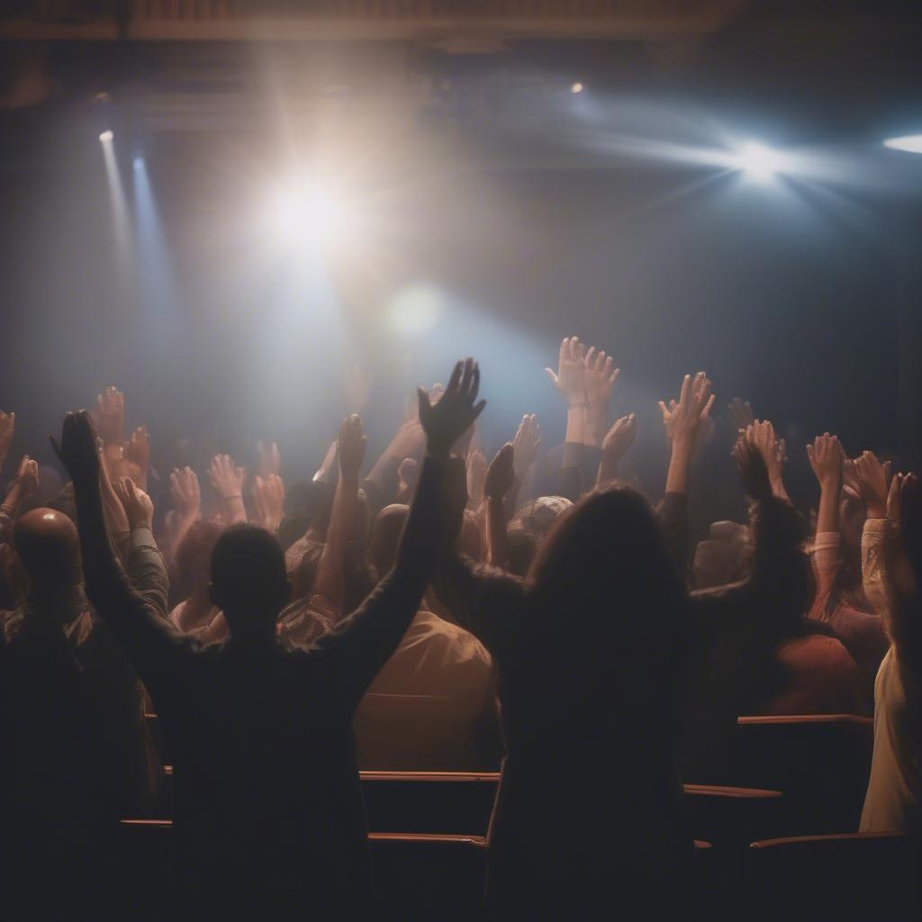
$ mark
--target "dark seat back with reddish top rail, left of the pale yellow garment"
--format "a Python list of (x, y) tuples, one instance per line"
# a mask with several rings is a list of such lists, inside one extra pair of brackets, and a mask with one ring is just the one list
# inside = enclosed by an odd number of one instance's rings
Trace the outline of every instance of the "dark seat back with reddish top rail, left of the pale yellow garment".
[(775, 835), (857, 829), (874, 748), (869, 717), (739, 717), (737, 730), (737, 783), (785, 792), (786, 823)]

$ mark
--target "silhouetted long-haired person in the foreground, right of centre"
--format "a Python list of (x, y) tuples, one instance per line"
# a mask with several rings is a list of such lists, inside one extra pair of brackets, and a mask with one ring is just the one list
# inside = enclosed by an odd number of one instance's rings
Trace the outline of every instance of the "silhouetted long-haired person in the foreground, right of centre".
[(436, 587), (499, 670), (491, 914), (654, 918), (685, 904), (684, 596), (644, 499), (620, 488), (577, 502), (526, 581), (449, 556)]

